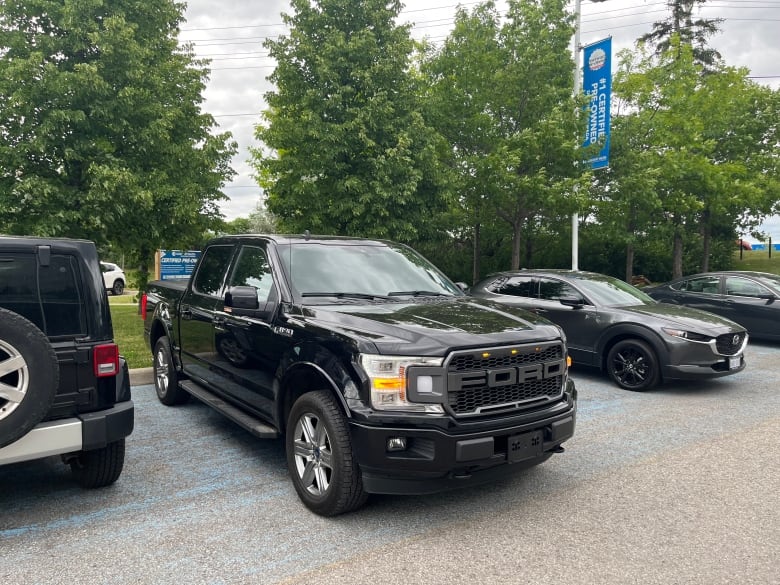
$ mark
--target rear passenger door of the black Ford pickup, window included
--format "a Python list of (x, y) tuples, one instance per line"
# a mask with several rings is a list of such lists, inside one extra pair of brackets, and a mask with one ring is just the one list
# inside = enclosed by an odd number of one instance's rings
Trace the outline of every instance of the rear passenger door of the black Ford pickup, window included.
[(206, 248), (179, 304), (179, 343), (184, 371), (209, 385), (219, 382), (211, 370), (216, 361), (214, 313), (222, 300), (225, 274), (234, 250), (233, 245)]

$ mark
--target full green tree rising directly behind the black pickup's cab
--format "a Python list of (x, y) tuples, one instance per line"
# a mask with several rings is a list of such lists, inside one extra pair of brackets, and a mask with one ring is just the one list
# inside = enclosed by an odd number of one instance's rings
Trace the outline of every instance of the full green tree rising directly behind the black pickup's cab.
[(397, 0), (292, 0), (253, 164), (283, 229), (424, 238), (446, 209)]

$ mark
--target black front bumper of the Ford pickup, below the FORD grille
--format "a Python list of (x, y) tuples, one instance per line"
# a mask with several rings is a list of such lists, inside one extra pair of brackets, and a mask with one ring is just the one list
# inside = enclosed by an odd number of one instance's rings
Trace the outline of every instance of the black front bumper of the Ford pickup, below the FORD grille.
[(355, 421), (350, 429), (367, 492), (428, 494), (492, 481), (546, 461), (562, 452), (561, 444), (574, 434), (576, 411), (576, 398), (571, 398), (569, 408), (554, 416), (457, 434)]

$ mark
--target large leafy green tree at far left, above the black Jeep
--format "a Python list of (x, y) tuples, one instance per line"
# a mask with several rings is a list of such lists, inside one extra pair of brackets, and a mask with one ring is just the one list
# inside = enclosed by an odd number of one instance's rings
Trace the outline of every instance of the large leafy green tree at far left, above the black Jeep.
[[(0, 230), (140, 254), (218, 225), (235, 145), (172, 0), (0, 4)], [(145, 280), (144, 280), (145, 282)]]

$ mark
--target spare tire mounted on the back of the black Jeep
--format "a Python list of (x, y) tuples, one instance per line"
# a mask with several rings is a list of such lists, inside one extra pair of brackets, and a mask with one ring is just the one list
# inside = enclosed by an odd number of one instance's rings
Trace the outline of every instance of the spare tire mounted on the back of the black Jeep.
[(0, 309), (0, 447), (37, 425), (54, 401), (60, 380), (49, 340), (21, 315)]

